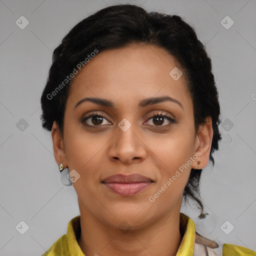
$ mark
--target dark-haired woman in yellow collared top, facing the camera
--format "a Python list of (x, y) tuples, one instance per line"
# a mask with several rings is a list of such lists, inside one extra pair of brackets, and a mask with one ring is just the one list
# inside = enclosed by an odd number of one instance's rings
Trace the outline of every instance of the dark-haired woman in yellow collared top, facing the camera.
[(80, 210), (43, 255), (217, 255), (180, 212), (190, 197), (203, 215), (200, 174), (221, 138), (211, 60), (192, 27), (130, 4), (97, 11), (54, 50), (41, 106)]

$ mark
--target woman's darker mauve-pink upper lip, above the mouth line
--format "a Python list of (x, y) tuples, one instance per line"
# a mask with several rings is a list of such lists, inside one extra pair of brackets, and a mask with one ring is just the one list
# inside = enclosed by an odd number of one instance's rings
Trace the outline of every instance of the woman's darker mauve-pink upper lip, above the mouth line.
[(102, 180), (103, 183), (138, 183), (153, 182), (150, 178), (134, 173), (129, 175), (115, 174)]

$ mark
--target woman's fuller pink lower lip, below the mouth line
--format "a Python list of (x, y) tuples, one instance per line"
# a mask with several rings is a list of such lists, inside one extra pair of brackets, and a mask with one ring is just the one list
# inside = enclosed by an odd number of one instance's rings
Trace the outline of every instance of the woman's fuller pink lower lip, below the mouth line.
[(104, 183), (107, 188), (123, 196), (134, 195), (148, 186), (153, 182), (138, 182), (138, 183)]

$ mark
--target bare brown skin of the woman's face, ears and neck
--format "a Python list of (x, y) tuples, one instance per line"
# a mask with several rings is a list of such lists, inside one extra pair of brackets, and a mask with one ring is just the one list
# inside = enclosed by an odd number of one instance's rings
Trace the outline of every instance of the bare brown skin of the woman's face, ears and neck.
[[(191, 168), (198, 168), (197, 161), (200, 168), (207, 165), (213, 133), (210, 118), (195, 133), (184, 75), (178, 80), (169, 75), (175, 66), (179, 67), (178, 62), (165, 49), (131, 44), (99, 52), (71, 81), (63, 136), (56, 122), (51, 135), (57, 164), (62, 162), (64, 168), (80, 174), (73, 186), (81, 219), (78, 244), (85, 255), (170, 256), (178, 250), (182, 193)], [(178, 100), (183, 109), (171, 101), (138, 106), (144, 98), (163, 95)], [(74, 108), (84, 97), (108, 99), (114, 107), (86, 101)], [(93, 117), (82, 123), (82, 117), (92, 111), (107, 118), (99, 124)], [(157, 125), (151, 117), (161, 111), (176, 122), (164, 118)], [(126, 131), (118, 126), (123, 118), (131, 124)], [(150, 202), (149, 196), (196, 152), (201, 155)], [(154, 182), (135, 195), (121, 196), (101, 183), (117, 173), (139, 173)], [(120, 227), (124, 221), (127, 231)]]

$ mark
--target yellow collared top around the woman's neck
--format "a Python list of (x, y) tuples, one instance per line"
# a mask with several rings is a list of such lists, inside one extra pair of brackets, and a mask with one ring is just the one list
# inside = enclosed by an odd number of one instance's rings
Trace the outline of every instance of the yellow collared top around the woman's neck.
[[(183, 236), (176, 256), (256, 256), (256, 252), (251, 249), (229, 243), (224, 243), (222, 253), (217, 254), (218, 244), (195, 232), (193, 220), (182, 212), (179, 229)], [(80, 232), (79, 215), (69, 221), (66, 234), (57, 239), (41, 256), (85, 256), (77, 243)]]

